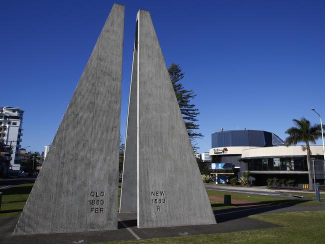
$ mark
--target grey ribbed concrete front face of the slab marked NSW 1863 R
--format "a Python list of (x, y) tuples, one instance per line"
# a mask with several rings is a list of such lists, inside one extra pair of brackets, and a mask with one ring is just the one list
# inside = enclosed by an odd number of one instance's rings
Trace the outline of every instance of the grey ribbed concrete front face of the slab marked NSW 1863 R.
[(138, 227), (213, 224), (148, 11), (139, 10), (138, 32)]

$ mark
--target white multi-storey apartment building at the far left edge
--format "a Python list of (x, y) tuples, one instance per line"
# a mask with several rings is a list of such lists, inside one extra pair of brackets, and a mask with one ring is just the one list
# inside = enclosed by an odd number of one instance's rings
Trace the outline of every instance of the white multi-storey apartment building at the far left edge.
[(16, 154), (20, 148), (22, 136), (23, 110), (19, 107), (0, 107), (0, 143), (11, 144), (11, 160), (9, 171), (19, 172), (20, 164), (16, 163)]

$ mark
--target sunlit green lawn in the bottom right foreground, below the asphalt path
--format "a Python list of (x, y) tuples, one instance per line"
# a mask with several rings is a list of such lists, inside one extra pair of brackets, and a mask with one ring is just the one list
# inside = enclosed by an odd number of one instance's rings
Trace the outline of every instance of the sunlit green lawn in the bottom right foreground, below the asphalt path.
[(166, 238), (141, 239), (129, 241), (96, 242), (112, 243), (232, 243), (232, 244), (268, 244), (268, 243), (308, 243), (319, 244), (325, 238), (323, 224), (325, 211), (302, 211), (286, 213), (265, 213), (250, 216), (252, 218), (281, 225), (281, 227), (238, 231), (220, 234), (187, 235)]

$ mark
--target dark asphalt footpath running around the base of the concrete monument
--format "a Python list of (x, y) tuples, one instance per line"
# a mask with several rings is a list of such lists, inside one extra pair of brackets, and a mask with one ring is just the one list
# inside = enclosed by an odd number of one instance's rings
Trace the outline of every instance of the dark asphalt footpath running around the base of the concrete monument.
[(325, 210), (325, 205), (246, 205), (242, 207), (233, 207), (214, 211), (217, 224), (161, 228), (137, 228), (136, 214), (119, 213), (118, 229), (116, 230), (26, 236), (11, 236), (15, 224), (18, 221), (18, 216), (0, 217), (0, 243), (89, 243), (97, 241), (145, 239), (155, 237), (223, 233), (250, 229), (272, 228), (279, 227), (279, 225), (249, 218), (248, 216), (258, 213), (304, 210)]

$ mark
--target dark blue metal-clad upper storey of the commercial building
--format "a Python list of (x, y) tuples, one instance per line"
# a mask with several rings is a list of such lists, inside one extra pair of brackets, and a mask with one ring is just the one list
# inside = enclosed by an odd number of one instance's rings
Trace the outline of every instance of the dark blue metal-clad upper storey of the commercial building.
[(211, 134), (211, 146), (273, 146), (284, 142), (272, 132), (264, 130), (227, 130)]

